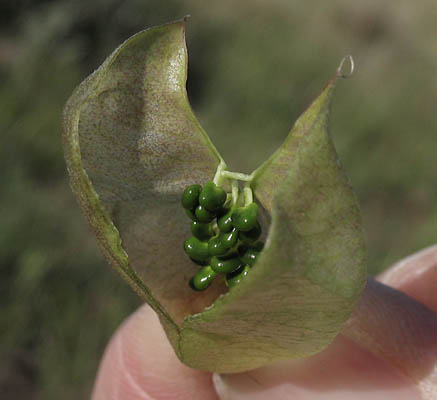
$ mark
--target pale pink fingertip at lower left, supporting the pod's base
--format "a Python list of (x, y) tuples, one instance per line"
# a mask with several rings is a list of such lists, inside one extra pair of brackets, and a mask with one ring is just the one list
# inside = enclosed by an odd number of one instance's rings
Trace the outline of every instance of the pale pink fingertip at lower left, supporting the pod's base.
[(93, 400), (216, 400), (211, 374), (176, 357), (155, 313), (141, 307), (119, 328), (102, 359)]

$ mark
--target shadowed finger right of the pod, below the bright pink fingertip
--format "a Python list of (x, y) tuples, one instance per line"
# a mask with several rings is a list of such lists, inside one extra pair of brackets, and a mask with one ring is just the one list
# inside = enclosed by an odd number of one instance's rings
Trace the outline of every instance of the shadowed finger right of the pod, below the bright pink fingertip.
[(342, 334), (437, 398), (437, 315), (425, 305), (369, 279)]

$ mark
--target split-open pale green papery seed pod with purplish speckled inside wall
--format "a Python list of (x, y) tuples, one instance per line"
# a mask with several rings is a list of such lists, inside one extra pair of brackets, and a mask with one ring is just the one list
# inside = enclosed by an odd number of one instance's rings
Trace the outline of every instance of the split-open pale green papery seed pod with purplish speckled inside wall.
[[(180, 196), (221, 156), (190, 108), (185, 21), (142, 31), (73, 93), (64, 146), (71, 186), (110, 263), (158, 314), (177, 356), (215, 372), (305, 357), (341, 330), (364, 288), (357, 200), (328, 134), (340, 69), (252, 174), (264, 250), (228, 290), (195, 292)], [(144, 332), (147, 335), (147, 332)]]

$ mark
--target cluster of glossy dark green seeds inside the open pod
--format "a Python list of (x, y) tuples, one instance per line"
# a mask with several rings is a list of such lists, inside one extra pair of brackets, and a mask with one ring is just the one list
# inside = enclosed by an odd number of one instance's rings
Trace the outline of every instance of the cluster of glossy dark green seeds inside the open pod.
[(188, 256), (201, 268), (190, 280), (194, 290), (204, 290), (217, 274), (226, 274), (228, 287), (240, 283), (254, 265), (263, 243), (258, 205), (238, 201), (214, 182), (188, 186), (182, 206), (191, 218), (192, 237), (184, 243)]

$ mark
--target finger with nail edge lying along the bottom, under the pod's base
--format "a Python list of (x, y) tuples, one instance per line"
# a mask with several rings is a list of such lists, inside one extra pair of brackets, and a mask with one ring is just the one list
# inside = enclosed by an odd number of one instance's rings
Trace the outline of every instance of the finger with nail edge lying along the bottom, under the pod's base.
[(419, 399), (414, 384), (339, 335), (322, 352), (240, 374), (214, 374), (222, 400)]

